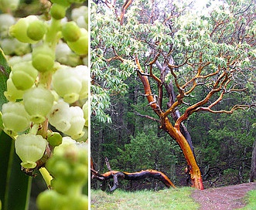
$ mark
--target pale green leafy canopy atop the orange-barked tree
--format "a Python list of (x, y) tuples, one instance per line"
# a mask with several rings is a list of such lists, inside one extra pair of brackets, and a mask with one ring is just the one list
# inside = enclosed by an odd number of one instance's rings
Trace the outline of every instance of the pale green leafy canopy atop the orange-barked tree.
[[(176, 71), (176, 79), (180, 84), (189, 81), (196, 75), (200, 65), (203, 65), (200, 73), (202, 76), (196, 80), (202, 86), (197, 86), (197, 89), (204, 88), (209, 92), (217, 76), (224, 72), (233, 74), (233, 69), (237, 71), (234, 80), (226, 87), (227, 92), (237, 87), (237, 83), (241, 88), (246, 85), (247, 74), (254, 68), (256, 55), (254, 42), (246, 39), (246, 35), (254, 36), (256, 22), (246, 22), (243, 17), (253, 15), (254, 9), (247, 9), (244, 14), (241, 12), (241, 8), (247, 8), (248, 2), (228, 2), (225, 7), (217, 5), (206, 15), (200, 12), (195, 14), (192, 9), (183, 7), (185, 4), (178, 6), (175, 2), (172, 3), (169, 7), (166, 5), (165, 9), (172, 12), (173, 18), (164, 20), (163, 15), (168, 14), (164, 8), (157, 8), (158, 5), (150, 2), (134, 1), (126, 12), (123, 25), (118, 22), (114, 10), (111, 11), (101, 4), (92, 4), (94, 21), (91, 32), (91, 73), (95, 85), (101, 86), (102, 92), (113, 94), (113, 91), (116, 92), (117, 83), (121, 92), (125, 90), (123, 81), (135, 69), (132, 57), (138, 55), (143, 63), (153, 59), (158, 52), (160, 62), (165, 59), (165, 53), (172, 52), (176, 66), (180, 65)], [(145, 14), (152, 7), (158, 9), (159, 15), (147, 22)], [(186, 9), (180, 12), (181, 8)], [(241, 38), (237, 38), (237, 32), (241, 33)], [(130, 64), (123, 69), (125, 63)], [(154, 73), (159, 76), (158, 71), (155, 70)], [(207, 76), (210, 73), (214, 74)], [(185, 91), (190, 88), (191, 85), (187, 85)], [(97, 95), (94, 91), (92, 89), (92, 93)], [(193, 100), (190, 94), (186, 96), (186, 103), (193, 103)], [(104, 104), (108, 103), (109, 99), (104, 101)], [(94, 107), (94, 103), (92, 104), (95, 112), (103, 114), (104, 110), (96, 111), (101, 107)], [(101, 120), (106, 117), (104, 114), (102, 116)]]

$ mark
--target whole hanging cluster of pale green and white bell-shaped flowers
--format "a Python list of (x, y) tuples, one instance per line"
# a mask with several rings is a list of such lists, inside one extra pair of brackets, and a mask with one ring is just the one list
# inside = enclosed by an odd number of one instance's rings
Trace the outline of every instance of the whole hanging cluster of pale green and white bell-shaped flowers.
[[(0, 7), (9, 7), (8, 11), (19, 5), (17, 0), (2, 2)], [(87, 147), (83, 143), (88, 137), (90, 86), (87, 7), (74, 8), (68, 20), (67, 8), (84, 1), (51, 2), (49, 20), (36, 15), (21, 19), (0, 15), (0, 46), (12, 66), (4, 93), (8, 102), (2, 106), (2, 127), (15, 141), (23, 168), (39, 168), (42, 161), (49, 165), (54, 191), (43, 195), (43, 200), (49, 194), (51, 199), (65, 194), (64, 188), (80, 195), (87, 181)], [(81, 8), (84, 13), (77, 15)], [(63, 144), (66, 138), (72, 145)], [(77, 205), (65, 209), (86, 209), (87, 197), (68, 196)], [(65, 199), (63, 204), (68, 205)]]

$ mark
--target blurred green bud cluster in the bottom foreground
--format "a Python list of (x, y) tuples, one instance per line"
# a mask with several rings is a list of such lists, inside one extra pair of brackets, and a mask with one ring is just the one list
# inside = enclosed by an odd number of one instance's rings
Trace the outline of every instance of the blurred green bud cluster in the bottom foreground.
[(43, 191), (39, 195), (39, 209), (87, 209), (87, 196), (82, 194), (88, 178), (87, 166), (87, 144), (63, 137), (63, 143), (55, 147), (53, 157), (46, 163), (46, 168), (54, 176), (54, 191)]

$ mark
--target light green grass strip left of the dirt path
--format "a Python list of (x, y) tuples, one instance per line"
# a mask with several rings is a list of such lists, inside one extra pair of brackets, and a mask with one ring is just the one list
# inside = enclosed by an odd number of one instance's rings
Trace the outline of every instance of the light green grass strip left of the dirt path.
[(193, 188), (165, 189), (161, 191), (121, 191), (112, 194), (90, 191), (91, 210), (108, 209), (199, 209), (200, 205), (190, 197)]

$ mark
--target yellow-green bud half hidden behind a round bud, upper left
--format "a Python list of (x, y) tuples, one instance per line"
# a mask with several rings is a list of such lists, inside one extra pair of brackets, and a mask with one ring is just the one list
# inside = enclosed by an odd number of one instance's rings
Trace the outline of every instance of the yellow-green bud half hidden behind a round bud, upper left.
[(20, 42), (35, 43), (35, 41), (30, 39), (26, 33), (29, 27), (29, 23), (35, 20), (38, 20), (38, 18), (35, 15), (29, 15), (26, 18), (19, 19), (19, 21), (16, 22), (15, 25), (12, 25), (10, 27), (10, 35), (14, 36)]

